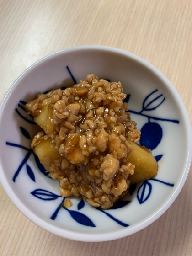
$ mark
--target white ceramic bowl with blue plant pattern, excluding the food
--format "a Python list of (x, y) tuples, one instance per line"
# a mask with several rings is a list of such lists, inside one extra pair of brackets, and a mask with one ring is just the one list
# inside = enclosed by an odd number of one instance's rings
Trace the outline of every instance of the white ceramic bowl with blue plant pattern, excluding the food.
[[(61, 208), (59, 183), (30, 149), (37, 125), (23, 104), (37, 93), (70, 86), (87, 74), (121, 81), (131, 118), (142, 131), (141, 144), (159, 163), (155, 179), (130, 187), (116, 208), (101, 211), (81, 198)], [(79, 241), (106, 241), (131, 235), (158, 219), (183, 187), (192, 155), (191, 125), (175, 88), (143, 59), (115, 48), (82, 46), (53, 53), (27, 69), (0, 106), (0, 181), (28, 219), (53, 234)]]

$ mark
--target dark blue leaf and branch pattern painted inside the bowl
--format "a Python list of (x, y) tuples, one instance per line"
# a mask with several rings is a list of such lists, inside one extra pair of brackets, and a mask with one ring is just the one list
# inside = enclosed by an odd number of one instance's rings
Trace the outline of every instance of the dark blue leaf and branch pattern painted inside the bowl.
[[(74, 75), (72, 75), (68, 66), (66, 67), (66, 69), (68, 70), (69, 75), (71, 76), (73, 82), (77, 83), (76, 80), (75, 80)], [(62, 88), (62, 89), (64, 89), (64, 88)], [(143, 127), (141, 128), (140, 144), (144, 145), (145, 147), (147, 147), (151, 150), (158, 147), (158, 145), (161, 142), (162, 136), (163, 136), (163, 130), (162, 130), (160, 124), (155, 123), (155, 122), (151, 122), (151, 120), (158, 120), (158, 121), (162, 121), (162, 122), (164, 121), (164, 122), (172, 122), (172, 123), (179, 124), (178, 120), (165, 119), (165, 118), (155, 117), (153, 115), (146, 114), (146, 112), (153, 111), (156, 108), (160, 107), (160, 105), (163, 104), (163, 102), (165, 101), (165, 97), (163, 96), (163, 94), (155, 96), (155, 94), (157, 92), (158, 92), (158, 90), (156, 89), (155, 91), (152, 91), (151, 93), (149, 93), (149, 95), (147, 95), (144, 98), (144, 101), (143, 101), (143, 104), (142, 104), (142, 110), (140, 112), (136, 112), (134, 110), (129, 110), (128, 111), (130, 113), (137, 114), (137, 115), (146, 117), (148, 119), (148, 122), (145, 123), (143, 125)], [(131, 95), (128, 94), (124, 101), (128, 102), (129, 99), (130, 99), (130, 96)], [(25, 120), (27, 123), (30, 123), (31, 125), (36, 125), (36, 123), (33, 121), (33, 117), (28, 115), (25, 108), (23, 107), (23, 105), (25, 105), (25, 104), (26, 104), (26, 102), (20, 101), (18, 103), (19, 109), (16, 108), (16, 113), (23, 120)], [(30, 133), (26, 130), (26, 128), (20, 127), (20, 130), (21, 130), (21, 134), (25, 138), (31, 140)], [(30, 165), (27, 164), (27, 161), (29, 160), (29, 157), (31, 155), (34, 156), (34, 160), (37, 164), (37, 168), (39, 169), (39, 171), (41, 173), (43, 173), (43, 175), (45, 175), (47, 178), (49, 178), (48, 173), (46, 172), (45, 168), (40, 163), (38, 157), (34, 154), (34, 152), (31, 148), (27, 148), (26, 146), (11, 143), (11, 142), (8, 142), (8, 141), (6, 142), (6, 145), (16, 147), (16, 148), (19, 148), (19, 149), (24, 149), (25, 151), (27, 151), (27, 154), (25, 155), (25, 157), (21, 161), (20, 165), (18, 166), (18, 168), (17, 168), (17, 170), (16, 170), (16, 172), (15, 172), (13, 178), (12, 178), (13, 182), (16, 182), (17, 176), (19, 175), (20, 171), (24, 168), (26, 168), (27, 175), (31, 179), (31, 181), (36, 182), (34, 171), (32, 171), (32, 168), (30, 167)], [(163, 157), (163, 154), (156, 155), (155, 159), (158, 162), (158, 161), (160, 161), (160, 159), (162, 157)], [(172, 183), (161, 181), (159, 179), (150, 179), (148, 181), (144, 181), (142, 184), (139, 184), (139, 186), (137, 184), (131, 185), (129, 187), (130, 196), (132, 196), (133, 193), (137, 189), (137, 200), (138, 200), (139, 204), (143, 204), (144, 202), (146, 202), (149, 199), (149, 197), (152, 193), (152, 184), (153, 184), (154, 181), (155, 182), (160, 182), (160, 183), (162, 183), (162, 185), (166, 185), (166, 186), (169, 186), (169, 187), (174, 186), (174, 184), (172, 184)], [(53, 200), (56, 200), (59, 197), (61, 197), (61, 195), (57, 195), (53, 192), (50, 192), (48, 190), (44, 190), (44, 189), (41, 189), (41, 188), (36, 188), (35, 190), (33, 190), (31, 192), (31, 194), (32, 194), (32, 196), (36, 197), (38, 200), (43, 200), (43, 201), (53, 201)], [(61, 202), (59, 203), (58, 207), (55, 209), (53, 214), (50, 216), (50, 219), (55, 220), (57, 218), (58, 214), (59, 214), (59, 211), (62, 208), (64, 208), (77, 223), (85, 225), (85, 226), (89, 226), (89, 227), (96, 227), (96, 225), (91, 220), (91, 217), (88, 217), (84, 213), (80, 212), (80, 210), (82, 208), (84, 208), (87, 203), (85, 203), (83, 200), (80, 200), (80, 202), (76, 205), (77, 210), (70, 210), (69, 208), (64, 207), (64, 201), (65, 201), (65, 198), (61, 197)], [(109, 210), (102, 210), (100, 208), (97, 208), (97, 210), (99, 212), (104, 213), (105, 215), (107, 215), (107, 217), (109, 217), (110, 219), (115, 221), (117, 224), (119, 224), (123, 227), (128, 227), (129, 224), (126, 224), (126, 223), (122, 222), (121, 220), (115, 218), (111, 213), (114, 210), (118, 209), (118, 208), (125, 207), (130, 202), (131, 202), (131, 200), (129, 200), (129, 201), (118, 201), (117, 204)]]

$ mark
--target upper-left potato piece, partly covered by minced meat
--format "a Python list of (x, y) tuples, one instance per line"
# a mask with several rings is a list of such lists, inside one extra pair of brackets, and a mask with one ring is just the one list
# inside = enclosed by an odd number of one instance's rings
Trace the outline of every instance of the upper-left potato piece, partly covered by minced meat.
[(53, 125), (51, 119), (53, 119), (53, 111), (49, 108), (51, 99), (43, 100), (41, 112), (34, 116), (34, 121), (45, 131), (46, 134), (50, 134), (53, 131)]

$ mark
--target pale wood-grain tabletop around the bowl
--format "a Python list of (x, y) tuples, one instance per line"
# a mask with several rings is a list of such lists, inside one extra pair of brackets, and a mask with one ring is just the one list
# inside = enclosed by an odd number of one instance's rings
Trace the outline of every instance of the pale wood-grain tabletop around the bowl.
[[(31, 64), (77, 45), (146, 59), (175, 86), (192, 121), (191, 0), (0, 0), (0, 101)], [(33, 224), (0, 186), (0, 256), (192, 256), (192, 172), (172, 206), (123, 239), (84, 243)]]

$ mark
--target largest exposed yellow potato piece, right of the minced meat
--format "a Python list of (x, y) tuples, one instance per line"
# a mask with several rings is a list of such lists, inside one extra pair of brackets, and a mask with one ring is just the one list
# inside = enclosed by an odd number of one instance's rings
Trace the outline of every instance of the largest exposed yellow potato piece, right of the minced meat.
[(133, 152), (128, 156), (128, 161), (135, 165), (134, 174), (129, 176), (131, 184), (154, 178), (158, 170), (155, 158), (141, 146), (126, 139), (133, 146)]

